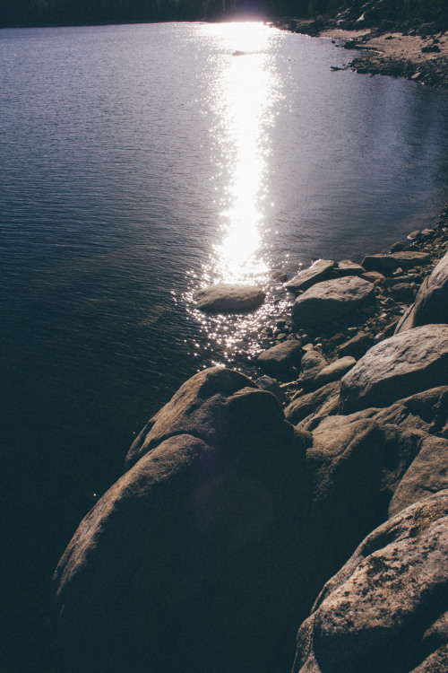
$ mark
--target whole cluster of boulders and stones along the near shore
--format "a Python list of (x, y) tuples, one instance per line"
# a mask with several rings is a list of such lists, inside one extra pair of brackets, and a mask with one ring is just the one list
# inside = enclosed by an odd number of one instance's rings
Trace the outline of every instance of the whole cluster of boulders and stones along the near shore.
[(61, 673), (448, 669), (444, 218), (320, 260), (151, 418), (55, 574)]

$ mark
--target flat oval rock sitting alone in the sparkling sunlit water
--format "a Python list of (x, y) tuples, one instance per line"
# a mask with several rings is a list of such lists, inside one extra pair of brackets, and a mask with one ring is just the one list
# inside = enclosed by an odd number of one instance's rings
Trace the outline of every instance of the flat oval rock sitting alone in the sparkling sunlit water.
[(197, 308), (206, 313), (245, 313), (258, 309), (265, 297), (261, 287), (224, 283), (194, 293)]

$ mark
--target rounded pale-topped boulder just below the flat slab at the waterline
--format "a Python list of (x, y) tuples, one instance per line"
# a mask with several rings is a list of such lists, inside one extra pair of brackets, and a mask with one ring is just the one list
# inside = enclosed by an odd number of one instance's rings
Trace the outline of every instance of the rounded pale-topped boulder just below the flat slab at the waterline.
[(374, 290), (374, 284), (356, 275), (323, 281), (297, 297), (292, 319), (301, 328), (314, 328), (340, 319), (369, 300)]

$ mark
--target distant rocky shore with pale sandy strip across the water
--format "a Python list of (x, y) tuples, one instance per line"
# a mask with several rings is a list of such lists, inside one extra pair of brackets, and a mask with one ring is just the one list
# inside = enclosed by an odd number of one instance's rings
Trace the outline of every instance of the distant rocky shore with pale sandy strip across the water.
[(348, 68), (358, 73), (404, 77), (448, 91), (448, 33), (435, 23), (418, 21), (370, 25), (363, 14), (334, 19), (274, 22), (278, 28), (332, 39), (337, 47), (357, 49)]

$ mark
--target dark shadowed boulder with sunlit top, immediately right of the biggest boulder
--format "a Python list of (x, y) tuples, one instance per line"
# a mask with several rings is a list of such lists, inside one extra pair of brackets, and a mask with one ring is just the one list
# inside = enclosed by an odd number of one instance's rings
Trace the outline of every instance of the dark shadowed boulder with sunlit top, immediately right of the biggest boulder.
[[(331, 549), (332, 563), (343, 563), (348, 550), (382, 520), (383, 445), (383, 432), (371, 419), (329, 416), (313, 431), (306, 451), (310, 544), (326, 549), (327, 555)], [(322, 565), (322, 556), (316, 553), (316, 558)]]

